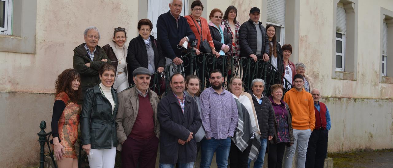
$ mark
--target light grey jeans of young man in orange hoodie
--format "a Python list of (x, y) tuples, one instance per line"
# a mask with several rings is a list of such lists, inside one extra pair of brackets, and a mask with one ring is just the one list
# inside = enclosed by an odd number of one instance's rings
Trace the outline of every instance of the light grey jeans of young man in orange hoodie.
[(304, 168), (306, 164), (306, 154), (307, 154), (307, 145), (309, 144), (309, 138), (311, 135), (311, 130), (296, 130), (293, 129), (294, 133), (294, 144), (290, 148), (286, 148), (285, 153), (285, 168), (292, 167), (292, 161), (296, 152), (296, 148), (298, 148), (298, 165), (297, 168)]

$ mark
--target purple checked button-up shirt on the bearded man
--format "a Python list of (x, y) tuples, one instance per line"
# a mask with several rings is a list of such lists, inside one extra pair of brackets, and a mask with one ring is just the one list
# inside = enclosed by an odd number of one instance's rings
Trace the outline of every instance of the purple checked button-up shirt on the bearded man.
[(232, 93), (223, 89), (218, 94), (213, 88), (205, 89), (200, 95), (202, 125), (206, 138), (227, 139), (233, 137), (239, 114)]

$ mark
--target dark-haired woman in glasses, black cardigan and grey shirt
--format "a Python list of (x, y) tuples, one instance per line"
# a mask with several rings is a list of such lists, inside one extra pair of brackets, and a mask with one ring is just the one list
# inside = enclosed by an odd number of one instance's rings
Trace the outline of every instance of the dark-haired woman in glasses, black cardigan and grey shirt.
[[(161, 73), (165, 66), (165, 56), (158, 40), (150, 35), (153, 24), (149, 19), (141, 19), (138, 22), (138, 37), (133, 38), (128, 46), (127, 69), (132, 74), (134, 69), (143, 67), (149, 69), (150, 73), (158, 71)], [(132, 75), (128, 81), (133, 84)]]

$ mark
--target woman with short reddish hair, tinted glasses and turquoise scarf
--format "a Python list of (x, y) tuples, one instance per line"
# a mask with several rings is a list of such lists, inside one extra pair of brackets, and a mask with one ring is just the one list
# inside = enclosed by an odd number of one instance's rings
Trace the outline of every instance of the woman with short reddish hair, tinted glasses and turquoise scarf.
[(228, 31), (225, 25), (221, 25), (222, 11), (220, 9), (213, 9), (210, 12), (209, 29), (211, 37), (213, 38), (214, 47), (220, 55), (227, 55), (231, 51), (232, 42), (228, 36)]

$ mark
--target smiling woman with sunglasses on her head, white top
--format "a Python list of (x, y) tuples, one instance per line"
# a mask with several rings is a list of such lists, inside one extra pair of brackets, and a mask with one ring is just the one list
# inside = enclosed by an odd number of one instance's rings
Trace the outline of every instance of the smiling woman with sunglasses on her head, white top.
[(125, 33), (125, 29), (117, 27), (113, 31), (112, 41), (102, 47), (110, 61), (112, 61), (112, 65), (116, 68), (116, 78), (113, 88), (116, 89), (117, 93), (129, 86), (126, 62), (127, 47), (124, 46), (126, 40), (127, 33)]

